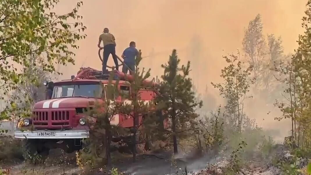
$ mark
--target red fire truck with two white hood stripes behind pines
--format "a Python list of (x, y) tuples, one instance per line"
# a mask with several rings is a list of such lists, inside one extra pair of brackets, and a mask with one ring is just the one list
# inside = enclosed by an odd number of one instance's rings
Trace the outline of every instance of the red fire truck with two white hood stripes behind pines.
[[(132, 81), (132, 75), (118, 71), (115, 74), (115, 78), (120, 80), (119, 90), (130, 93), (125, 79)], [(116, 80), (113, 81), (115, 82)], [(23, 119), (21, 127), (15, 130), (15, 138), (26, 139), (27, 152), (37, 153), (42, 157), (46, 157), (49, 150), (54, 148), (61, 148), (67, 153), (81, 149), (82, 140), (90, 134), (83, 111), (90, 109), (96, 100), (101, 100), (104, 96), (101, 94), (100, 83), (108, 84), (108, 76), (92, 68), (81, 68), (77, 76), (72, 76), (69, 80), (45, 82), (52, 95), (48, 93), (47, 100), (35, 104), (32, 117)], [(146, 80), (143, 84), (154, 86), (156, 83)], [(156, 95), (150, 88), (141, 88), (140, 91), (141, 100), (144, 101), (150, 101)], [(118, 97), (116, 101), (122, 102), (124, 99)], [(142, 118), (139, 122), (142, 122)], [(132, 128), (133, 119), (118, 114), (111, 125)]]

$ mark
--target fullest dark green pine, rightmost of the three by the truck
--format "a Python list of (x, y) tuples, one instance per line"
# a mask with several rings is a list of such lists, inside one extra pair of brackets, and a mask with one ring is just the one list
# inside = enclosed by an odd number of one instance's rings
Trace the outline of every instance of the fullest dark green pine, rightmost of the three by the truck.
[[(189, 78), (190, 62), (179, 68), (180, 59), (173, 50), (167, 64), (162, 64), (164, 74), (157, 94), (157, 108), (164, 113), (164, 119), (171, 120), (171, 130), (164, 130), (165, 135), (173, 140), (174, 153), (178, 153), (177, 138), (182, 138), (185, 131), (191, 130), (191, 124), (198, 117), (196, 107), (202, 106), (202, 101), (196, 102), (193, 84)], [(181, 72), (181, 73), (179, 73)]]

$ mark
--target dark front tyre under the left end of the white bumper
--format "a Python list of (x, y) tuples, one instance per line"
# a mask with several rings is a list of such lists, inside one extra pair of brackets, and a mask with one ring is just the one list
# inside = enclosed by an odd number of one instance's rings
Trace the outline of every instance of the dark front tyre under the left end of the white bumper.
[[(41, 147), (38, 147), (41, 146)], [(26, 139), (23, 144), (23, 157), (32, 164), (43, 163), (49, 155), (49, 149), (37, 139)]]

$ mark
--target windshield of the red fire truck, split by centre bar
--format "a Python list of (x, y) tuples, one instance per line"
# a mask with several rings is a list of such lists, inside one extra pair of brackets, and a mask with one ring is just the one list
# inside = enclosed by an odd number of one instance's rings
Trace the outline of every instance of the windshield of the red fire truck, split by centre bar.
[(99, 84), (74, 84), (54, 86), (52, 98), (60, 97), (101, 97)]

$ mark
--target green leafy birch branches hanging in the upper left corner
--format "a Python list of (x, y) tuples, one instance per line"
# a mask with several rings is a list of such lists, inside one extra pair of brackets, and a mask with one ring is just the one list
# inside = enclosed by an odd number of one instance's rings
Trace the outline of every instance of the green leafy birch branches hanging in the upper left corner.
[[(80, 22), (68, 23), (67, 20), (79, 20), (77, 15), (82, 2), (69, 13), (57, 15), (53, 7), (59, 0), (3, 0), (0, 2), (0, 86), (2, 99), (19, 84), (37, 84), (36, 77), (18, 71), (18, 67), (27, 69), (40, 65), (43, 71), (55, 71), (55, 64), (74, 63), (72, 49), (78, 49), (77, 40), (86, 35), (79, 34), (86, 29)], [(31, 62), (30, 56), (42, 56), (43, 62)], [(29, 94), (26, 94), (29, 95)], [(31, 96), (25, 102), (31, 103)], [(29, 107), (29, 105), (27, 106)], [(18, 110), (15, 101), (1, 112), (0, 120)], [(22, 116), (29, 116), (26, 110)]]

